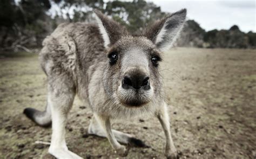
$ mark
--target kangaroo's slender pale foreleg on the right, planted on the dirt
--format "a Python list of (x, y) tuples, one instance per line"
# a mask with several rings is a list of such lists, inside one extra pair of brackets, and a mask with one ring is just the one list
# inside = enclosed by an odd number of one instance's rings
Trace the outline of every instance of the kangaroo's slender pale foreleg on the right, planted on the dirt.
[(166, 146), (165, 146), (165, 155), (167, 158), (177, 158), (177, 150), (173, 144), (171, 130), (170, 130), (170, 121), (169, 115), (167, 112), (166, 103), (163, 108), (158, 112), (157, 118), (161, 123), (161, 126), (164, 129), (165, 138), (166, 138)]

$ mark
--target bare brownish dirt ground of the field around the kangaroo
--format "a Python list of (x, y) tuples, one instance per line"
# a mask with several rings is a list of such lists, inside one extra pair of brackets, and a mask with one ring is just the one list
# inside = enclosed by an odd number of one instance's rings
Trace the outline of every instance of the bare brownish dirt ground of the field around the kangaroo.
[[(51, 128), (23, 114), (44, 110), (46, 76), (37, 55), (0, 54), (0, 158), (52, 158)], [(256, 50), (174, 48), (161, 64), (171, 132), (180, 158), (256, 157)], [(105, 138), (86, 135), (92, 113), (75, 100), (66, 126), (71, 151), (84, 158), (117, 158)], [(115, 122), (143, 140), (126, 158), (164, 158), (165, 137), (157, 119)], [(119, 157), (120, 158), (120, 157)]]

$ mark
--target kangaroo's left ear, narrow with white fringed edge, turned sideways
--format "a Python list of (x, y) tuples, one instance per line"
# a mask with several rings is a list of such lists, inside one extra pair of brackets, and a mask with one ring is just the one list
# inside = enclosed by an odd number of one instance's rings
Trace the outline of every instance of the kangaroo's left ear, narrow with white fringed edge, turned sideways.
[(116, 21), (105, 16), (98, 10), (93, 10), (96, 15), (99, 32), (102, 34), (104, 46), (109, 47), (114, 44), (122, 35), (128, 34), (127, 30)]

